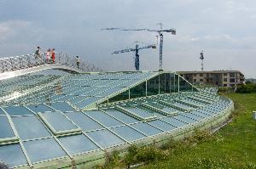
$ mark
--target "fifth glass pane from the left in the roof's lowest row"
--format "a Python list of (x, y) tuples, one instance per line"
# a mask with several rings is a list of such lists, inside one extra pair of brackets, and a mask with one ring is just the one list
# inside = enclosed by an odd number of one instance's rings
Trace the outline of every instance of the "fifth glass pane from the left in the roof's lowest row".
[(114, 127), (111, 128), (110, 130), (117, 133), (120, 137), (125, 138), (125, 140), (128, 141), (133, 141), (145, 137), (142, 133), (137, 132), (131, 127)]

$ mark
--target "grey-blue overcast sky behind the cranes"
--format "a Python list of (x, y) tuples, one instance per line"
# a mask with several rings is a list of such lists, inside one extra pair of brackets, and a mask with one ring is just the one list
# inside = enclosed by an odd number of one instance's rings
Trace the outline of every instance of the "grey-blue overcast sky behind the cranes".
[[(0, 0), (0, 56), (43, 50), (79, 54), (108, 70), (134, 70), (133, 53), (111, 54), (136, 41), (156, 43), (147, 31), (101, 28), (175, 28), (164, 33), (164, 70), (241, 70), (256, 78), (255, 0)], [(143, 44), (141, 44), (143, 45)], [(159, 69), (159, 48), (140, 51), (142, 70)]]

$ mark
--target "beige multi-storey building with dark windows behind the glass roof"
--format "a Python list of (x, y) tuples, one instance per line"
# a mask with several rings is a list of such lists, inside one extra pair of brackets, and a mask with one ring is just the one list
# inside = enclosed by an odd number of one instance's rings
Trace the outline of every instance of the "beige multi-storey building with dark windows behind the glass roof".
[(197, 85), (236, 87), (245, 82), (244, 75), (239, 70), (177, 71), (177, 74)]

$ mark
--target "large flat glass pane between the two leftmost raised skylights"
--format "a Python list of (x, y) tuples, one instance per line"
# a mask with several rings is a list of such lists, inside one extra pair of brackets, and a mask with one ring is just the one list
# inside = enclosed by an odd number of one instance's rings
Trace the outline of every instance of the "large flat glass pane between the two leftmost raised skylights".
[(12, 117), (21, 139), (44, 138), (50, 134), (34, 115)]

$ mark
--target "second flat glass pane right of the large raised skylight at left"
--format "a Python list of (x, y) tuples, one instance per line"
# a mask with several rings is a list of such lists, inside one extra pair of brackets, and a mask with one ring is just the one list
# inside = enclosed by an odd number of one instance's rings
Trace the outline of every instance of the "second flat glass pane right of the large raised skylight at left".
[(102, 111), (86, 111), (85, 114), (90, 115), (96, 121), (100, 121), (105, 127), (115, 127), (123, 124)]

